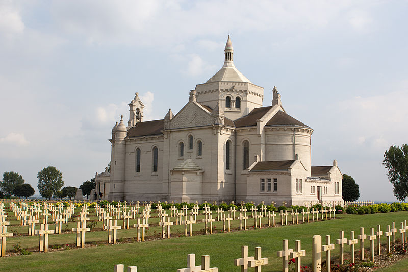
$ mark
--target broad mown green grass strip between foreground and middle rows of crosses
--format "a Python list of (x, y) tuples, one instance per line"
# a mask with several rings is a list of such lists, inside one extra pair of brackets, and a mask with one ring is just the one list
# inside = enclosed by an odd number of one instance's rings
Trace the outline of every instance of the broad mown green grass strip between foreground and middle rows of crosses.
[[(355, 235), (358, 235), (360, 227), (365, 227), (365, 232), (368, 234), (369, 228), (376, 228), (377, 224), (381, 224), (381, 229), (385, 231), (387, 225), (391, 225), (394, 221), (396, 227), (399, 228), (400, 222), (407, 219), (408, 211), (369, 215), (342, 214), (336, 215), (336, 217), (337, 219), (335, 220), (266, 227), (262, 229), (253, 229), (253, 219), (250, 219), (248, 220), (248, 225), (251, 229), (247, 231), (158, 239), (146, 242), (119, 243), (116, 245), (101, 243), (87, 246), (84, 249), (71, 248), (70, 250), (47, 253), (37, 252), (28, 256), (5, 257), (0, 259), (0, 271), (113, 271), (115, 264), (124, 264), (125, 267), (135, 265), (141, 272), (176, 271), (187, 266), (188, 253), (196, 254), (196, 265), (200, 265), (201, 255), (210, 255), (211, 267), (219, 267), (220, 271), (240, 271), (239, 267), (234, 266), (234, 259), (241, 257), (241, 245), (248, 245), (249, 256), (254, 256), (255, 246), (261, 246), (262, 257), (268, 257), (268, 265), (263, 268), (267, 271), (281, 271), (282, 259), (277, 257), (277, 251), (282, 250), (283, 239), (289, 239), (290, 249), (294, 248), (295, 240), (301, 240), (302, 249), (306, 250), (307, 253), (306, 257), (302, 257), (302, 265), (310, 266), (313, 235), (321, 235), (323, 241), (325, 240), (325, 235), (331, 235), (331, 242), (335, 243), (336, 239), (339, 238), (340, 230), (343, 230), (345, 237), (349, 238), (350, 231), (354, 231)], [(277, 216), (276, 222), (279, 221), (278, 218)], [(265, 224), (265, 221), (263, 224)], [(203, 223), (198, 224), (198, 226), (203, 228)], [(221, 222), (216, 222), (216, 228), (222, 229)], [(132, 228), (129, 230), (119, 230), (118, 238), (122, 235), (127, 236), (124, 233), (128, 232), (136, 236), (136, 229)], [(52, 236), (50, 236), (50, 240)], [(91, 238), (91, 236), (95, 237)], [(86, 234), (85, 240), (106, 241), (107, 236), (106, 231), (92, 232)], [(58, 239), (63, 237), (60, 236)], [(74, 237), (74, 234), (66, 234), (65, 242), (63, 243), (72, 244), (75, 241)], [(396, 233), (397, 237), (399, 237), (399, 233)], [(22, 239), (22, 244), (27, 242), (24, 242), (24, 239), (30, 239), (30, 242), (27, 243), (35, 242), (38, 244), (38, 236), (11, 237), (7, 239), (7, 249), (12, 249), (13, 243), (17, 242), (17, 239)], [(33, 240), (31, 241), (31, 239)], [(385, 235), (381, 237), (381, 241), (386, 243)], [(369, 250), (368, 241), (366, 241), (365, 245), (366, 250)], [(359, 256), (359, 249), (357, 248), (359, 246), (356, 247), (356, 256)], [(349, 246), (345, 246), (344, 251), (348, 253)], [(336, 244), (335, 250), (332, 251), (333, 260), (337, 260), (338, 255), (339, 247)], [(366, 256), (369, 256), (368, 252)], [(323, 254), (323, 260), (325, 260), (325, 254)], [(395, 266), (381, 271), (402, 271), (406, 269), (407, 265), (408, 259), (404, 259)], [(394, 267), (399, 268), (394, 269)]]

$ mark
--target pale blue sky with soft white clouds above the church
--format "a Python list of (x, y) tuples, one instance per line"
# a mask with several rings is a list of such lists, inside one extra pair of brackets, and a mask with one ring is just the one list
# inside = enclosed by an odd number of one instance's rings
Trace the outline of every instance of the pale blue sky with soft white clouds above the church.
[(277, 86), (312, 127), (312, 165), (336, 159), (360, 200), (394, 201), (381, 165), (408, 140), (408, 1), (0, 0), (0, 174), (37, 189), (48, 165), (79, 187), (110, 161), (139, 92), (144, 120), (178, 112), (222, 66)]

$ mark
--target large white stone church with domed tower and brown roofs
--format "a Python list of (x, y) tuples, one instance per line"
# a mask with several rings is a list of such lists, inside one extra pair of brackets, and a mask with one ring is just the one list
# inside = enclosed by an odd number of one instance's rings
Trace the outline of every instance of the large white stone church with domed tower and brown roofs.
[(313, 129), (285, 111), (276, 87), (263, 106), (264, 88), (237, 70), (229, 36), (224, 52), (222, 68), (176, 114), (143, 121), (136, 93), (129, 120), (112, 129), (111, 172), (95, 177), (103, 199), (342, 201), (336, 160), (311, 166)]

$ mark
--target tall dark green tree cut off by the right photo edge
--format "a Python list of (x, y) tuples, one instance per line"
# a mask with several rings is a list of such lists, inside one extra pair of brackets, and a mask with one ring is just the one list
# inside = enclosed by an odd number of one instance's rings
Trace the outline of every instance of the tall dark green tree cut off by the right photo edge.
[(394, 186), (393, 192), (399, 201), (408, 196), (408, 144), (390, 146), (384, 153), (382, 164), (388, 169), (388, 179)]

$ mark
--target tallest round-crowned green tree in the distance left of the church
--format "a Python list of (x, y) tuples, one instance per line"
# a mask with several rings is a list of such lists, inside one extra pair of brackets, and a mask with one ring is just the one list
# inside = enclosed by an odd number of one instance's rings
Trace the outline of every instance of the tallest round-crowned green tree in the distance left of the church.
[(57, 170), (54, 166), (48, 166), (47, 168), (42, 169), (38, 172), (38, 190), (40, 194), (43, 195), (45, 191), (51, 191), (51, 195), (49, 196), (49, 192), (45, 192), (48, 199), (50, 199), (53, 194), (61, 189), (64, 185), (64, 181), (62, 180), (62, 173)]

